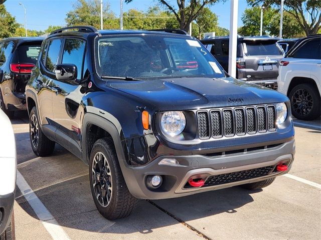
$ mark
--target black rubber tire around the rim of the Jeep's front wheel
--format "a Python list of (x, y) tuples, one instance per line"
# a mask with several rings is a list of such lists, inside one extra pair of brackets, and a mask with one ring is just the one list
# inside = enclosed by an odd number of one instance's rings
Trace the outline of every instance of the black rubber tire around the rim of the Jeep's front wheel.
[[(113, 199), (109, 203), (107, 207), (109, 207), (110, 210), (104, 209), (99, 202), (96, 202), (96, 196), (93, 197), (95, 199), (95, 204), (97, 206), (97, 209), (99, 212), (107, 219), (118, 219), (118, 218), (123, 218), (128, 216), (132, 209), (135, 207), (137, 199), (131, 195), (129, 192), (125, 179), (122, 175), (120, 165), (118, 162), (117, 154), (116, 154), (116, 149), (113, 145), (113, 142), (110, 138), (108, 137), (103, 137), (98, 139), (92, 148), (91, 152), (94, 152), (96, 147), (103, 147), (104, 149), (107, 150), (107, 153), (109, 156), (112, 156), (111, 159), (109, 160), (109, 164), (113, 164), (115, 168), (115, 175), (116, 175), (116, 181), (113, 181), (113, 184), (115, 185), (116, 182), (116, 200), (113, 202)], [(93, 155), (90, 155), (90, 159), (93, 158)], [(111, 161), (111, 162), (110, 162)], [(91, 171), (91, 165), (92, 162), (90, 161), (89, 164), (89, 171)], [(106, 207), (106, 208), (107, 208)]]

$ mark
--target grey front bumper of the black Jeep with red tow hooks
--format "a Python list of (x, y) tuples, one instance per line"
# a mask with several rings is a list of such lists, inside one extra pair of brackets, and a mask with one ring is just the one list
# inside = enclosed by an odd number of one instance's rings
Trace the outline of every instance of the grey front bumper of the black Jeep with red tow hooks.
[[(246, 149), (246, 146), (244, 146)], [(250, 148), (249, 148), (250, 149)], [(163, 199), (190, 195), (198, 192), (231, 187), (255, 181), (261, 181), (278, 176), (289, 171), (295, 153), (295, 142), (291, 140), (276, 144), (269, 148), (253, 149), (242, 152), (226, 152), (221, 155), (163, 155), (159, 156), (145, 166), (128, 167), (125, 170), (125, 180), (129, 191), (137, 198)], [(179, 165), (159, 165), (164, 158), (175, 158)], [(219, 175), (231, 172), (239, 172), (265, 166), (276, 166), (279, 163), (286, 164), (286, 171), (272, 171), (267, 175), (236, 180), (213, 186), (186, 188), (188, 179), (193, 175), (208, 174)], [(273, 168), (274, 169), (274, 168)], [(124, 173), (124, 171), (123, 171)], [(163, 184), (156, 189), (147, 187), (148, 175), (162, 175)]]

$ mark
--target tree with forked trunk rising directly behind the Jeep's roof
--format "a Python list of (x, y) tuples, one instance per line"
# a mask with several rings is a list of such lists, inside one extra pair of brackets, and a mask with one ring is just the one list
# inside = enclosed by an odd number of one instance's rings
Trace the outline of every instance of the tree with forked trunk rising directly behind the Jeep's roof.
[[(126, 3), (133, 0), (125, 0)], [(171, 0), (157, 0), (159, 4), (172, 12), (181, 29), (188, 31), (190, 23), (201, 14), (205, 6), (213, 5), (219, 0), (177, 0), (177, 7), (172, 5)], [(225, 1), (225, 0), (222, 0)]]

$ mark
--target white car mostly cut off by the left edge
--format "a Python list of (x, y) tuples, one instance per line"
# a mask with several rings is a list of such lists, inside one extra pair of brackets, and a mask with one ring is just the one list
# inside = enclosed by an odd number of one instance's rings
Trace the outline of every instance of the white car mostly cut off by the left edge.
[(16, 141), (8, 116), (0, 109), (0, 239), (15, 239)]

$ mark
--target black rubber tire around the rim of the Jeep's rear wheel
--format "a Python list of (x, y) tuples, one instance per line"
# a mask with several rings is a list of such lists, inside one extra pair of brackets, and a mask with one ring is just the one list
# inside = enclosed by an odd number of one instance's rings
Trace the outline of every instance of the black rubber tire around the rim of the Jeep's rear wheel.
[[(30, 119), (31, 119), (31, 116), (35, 114), (36, 117), (37, 117), (37, 120), (38, 120), (38, 128), (39, 128), (39, 141), (38, 141), (38, 146), (37, 148), (34, 148), (32, 142), (31, 142), (31, 147), (34, 151), (34, 153), (37, 155), (37, 156), (48, 156), (50, 155), (53, 151), (54, 151), (54, 148), (55, 148), (55, 142), (50, 140), (41, 130), (41, 127), (40, 127), (40, 122), (39, 122), (39, 117), (38, 117), (38, 112), (37, 112), (37, 108), (36, 106), (34, 106), (32, 108), (32, 110), (30, 111)], [(30, 122), (30, 119), (29, 119), (29, 122)], [(29, 123), (30, 124), (30, 123)], [(30, 141), (31, 141), (31, 133), (30, 134)]]

